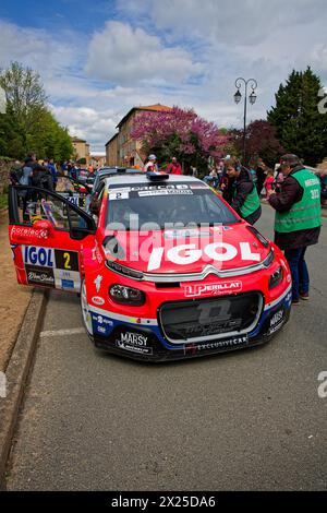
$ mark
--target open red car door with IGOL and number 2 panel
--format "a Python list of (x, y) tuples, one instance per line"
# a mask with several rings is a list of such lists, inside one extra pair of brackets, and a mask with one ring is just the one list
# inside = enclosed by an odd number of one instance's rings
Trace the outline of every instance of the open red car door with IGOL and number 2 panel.
[(17, 282), (81, 290), (81, 250), (94, 246), (94, 219), (69, 198), (46, 189), (11, 186), (9, 238)]

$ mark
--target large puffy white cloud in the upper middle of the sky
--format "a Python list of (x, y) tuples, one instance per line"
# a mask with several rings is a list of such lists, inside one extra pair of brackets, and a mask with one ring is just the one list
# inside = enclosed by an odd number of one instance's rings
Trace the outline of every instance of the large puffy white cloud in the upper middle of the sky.
[(180, 83), (201, 73), (202, 64), (180, 47), (165, 47), (143, 28), (107, 22), (90, 41), (86, 72), (114, 84)]

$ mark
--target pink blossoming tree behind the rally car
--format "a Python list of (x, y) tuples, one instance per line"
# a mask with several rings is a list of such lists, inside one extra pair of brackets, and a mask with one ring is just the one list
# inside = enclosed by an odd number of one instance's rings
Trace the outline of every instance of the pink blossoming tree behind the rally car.
[(141, 112), (134, 120), (132, 138), (142, 142), (146, 153), (155, 153), (162, 167), (174, 156), (185, 169), (194, 165), (203, 171), (208, 157), (221, 157), (228, 141), (215, 123), (179, 107), (168, 112)]

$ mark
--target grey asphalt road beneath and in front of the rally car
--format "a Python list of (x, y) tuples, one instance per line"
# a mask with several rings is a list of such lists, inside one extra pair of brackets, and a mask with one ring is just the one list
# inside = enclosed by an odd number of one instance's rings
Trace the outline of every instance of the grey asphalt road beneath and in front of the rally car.
[[(272, 215), (258, 224), (271, 236)], [(327, 219), (311, 300), (268, 345), (149, 366), (94, 350), (78, 299), (52, 293), (9, 490), (326, 490)]]

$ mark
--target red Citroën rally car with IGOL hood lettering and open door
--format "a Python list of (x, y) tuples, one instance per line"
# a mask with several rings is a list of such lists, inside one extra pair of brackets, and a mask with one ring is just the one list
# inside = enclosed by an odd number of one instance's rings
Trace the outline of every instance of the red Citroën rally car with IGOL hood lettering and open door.
[(23, 285), (81, 293), (96, 347), (159, 361), (268, 341), (288, 321), (281, 251), (201, 180), (121, 172), (87, 213), (13, 186), (9, 236)]

